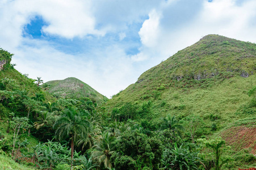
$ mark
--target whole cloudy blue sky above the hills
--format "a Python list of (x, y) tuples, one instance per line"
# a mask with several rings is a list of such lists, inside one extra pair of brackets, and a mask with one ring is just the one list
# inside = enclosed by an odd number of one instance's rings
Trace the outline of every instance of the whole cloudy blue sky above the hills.
[(110, 98), (217, 34), (256, 42), (255, 0), (0, 0), (0, 47), (44, 82), (75, 77)]

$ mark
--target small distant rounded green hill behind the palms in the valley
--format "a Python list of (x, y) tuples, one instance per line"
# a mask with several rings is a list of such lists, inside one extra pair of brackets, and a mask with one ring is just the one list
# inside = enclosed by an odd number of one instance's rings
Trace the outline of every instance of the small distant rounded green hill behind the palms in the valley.
[(108, 100), (106, 96), (99, 94), (99, 92), (77, 78), (70, 77), (64, 80), (52, 80), (45, 84), (49, 85), (48, 92), (56, 97), (69, 99), (89, 97), (97, 102)]

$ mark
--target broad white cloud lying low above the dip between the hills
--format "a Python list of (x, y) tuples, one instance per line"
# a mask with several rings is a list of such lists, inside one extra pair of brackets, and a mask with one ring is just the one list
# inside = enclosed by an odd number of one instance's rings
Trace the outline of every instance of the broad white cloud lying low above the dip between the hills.
[(52, 48), (45, 41), (25, 41), (34, 47), (22, 45), (15, 50), (12, 63), (17, 63), (15, 68), (21, 73), (33, 79), (40, 76), (44, 82), (75, 77), (110, 97), (135, 82), (141, 72), (117, 45), (74, 56)]

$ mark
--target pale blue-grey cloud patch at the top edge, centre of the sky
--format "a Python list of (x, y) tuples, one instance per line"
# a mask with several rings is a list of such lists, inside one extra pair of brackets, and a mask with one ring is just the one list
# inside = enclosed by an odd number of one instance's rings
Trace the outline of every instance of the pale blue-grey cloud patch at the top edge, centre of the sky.
[(141, 23), (152, 8), (165, 0), (98, 0), (92, 1), (93, 14), (100, 28), (109, 32), (128, 29), (128, 25)]

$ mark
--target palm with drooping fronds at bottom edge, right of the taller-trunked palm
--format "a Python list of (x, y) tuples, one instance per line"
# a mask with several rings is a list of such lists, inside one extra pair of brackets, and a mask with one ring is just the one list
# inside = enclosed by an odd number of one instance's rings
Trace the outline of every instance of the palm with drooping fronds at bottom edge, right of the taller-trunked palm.
[(110, 157), (115, 151), (116, 138), (108, 131), (102, 133), (102, 138), (95, 141), (94, 150), (91, 152), (93, 160), (99, 165), (104, 164), (105, 168), (112, 168)]

